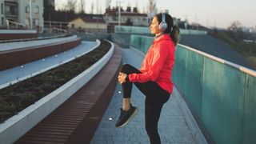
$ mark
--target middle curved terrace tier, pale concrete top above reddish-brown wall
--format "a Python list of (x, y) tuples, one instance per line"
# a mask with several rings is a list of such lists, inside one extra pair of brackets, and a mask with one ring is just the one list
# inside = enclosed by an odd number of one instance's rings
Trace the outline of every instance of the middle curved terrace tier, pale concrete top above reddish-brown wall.
[[(26, 45), (26, 43), (28, 44)], [(8, 49), (0, 51), (0, 70), (20, 66), (27, 62), (33, 62), (50, 55), (58, 54), (62, 51), (70, 50), (80, 43), (81, 39), (72, 36), (70, 38), (42, 40), (42, 42), (14, 42), (13, 45), (15, 49), (13, 49), (12, 46), (8, 46), (11, 44), (0, 44), (0, 46), (6, 46), (5, 48)]]

